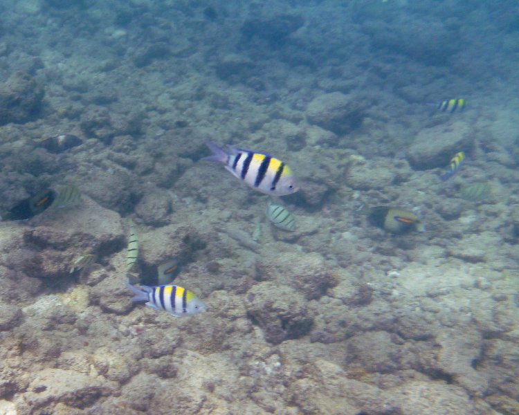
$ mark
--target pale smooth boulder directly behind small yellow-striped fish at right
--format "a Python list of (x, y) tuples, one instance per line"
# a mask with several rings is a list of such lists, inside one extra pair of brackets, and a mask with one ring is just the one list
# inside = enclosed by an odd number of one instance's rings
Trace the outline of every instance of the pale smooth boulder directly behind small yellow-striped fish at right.
[(407, 158), (417, 170), (447, 167), (453, 154), (470, 151), (473, 141), (473, 130), (466, 122), (437, 125), (418, 133), (408, 148)]

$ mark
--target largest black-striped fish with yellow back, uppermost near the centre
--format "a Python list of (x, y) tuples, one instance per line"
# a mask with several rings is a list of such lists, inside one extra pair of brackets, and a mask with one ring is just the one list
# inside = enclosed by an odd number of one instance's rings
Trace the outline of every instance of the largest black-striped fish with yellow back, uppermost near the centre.
[(206, 142), (206, 145), (213, 154), (203, 160), (223, 163), (233, 176), (258, 192), (284, 196), (299, 190), (291, 169), (277, 158), (233, 146), (229, 146), (230, 153), (227, 153), (211, 141)]

